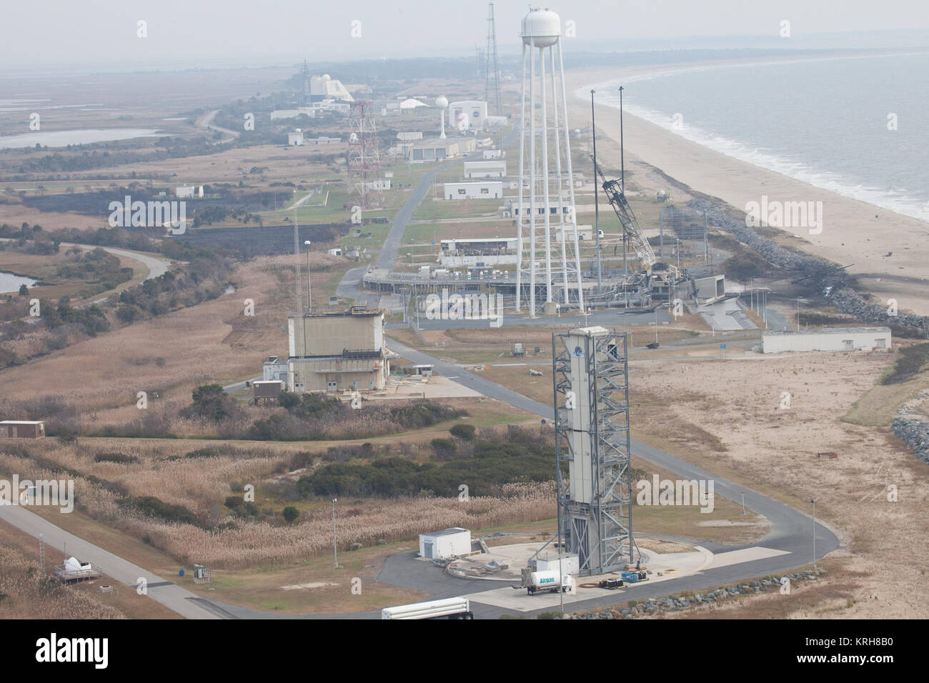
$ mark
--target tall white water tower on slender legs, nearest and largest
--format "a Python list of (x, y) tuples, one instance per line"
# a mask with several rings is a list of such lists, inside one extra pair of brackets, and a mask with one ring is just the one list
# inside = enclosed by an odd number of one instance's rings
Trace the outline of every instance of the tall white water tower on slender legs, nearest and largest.
[[(583, 309), (583, 290), (580, 245), (574, 211), (574, 182), (571, 173), (568, 99), (565, 93), (564, 59), (561, 53), (561, 19), (548, 9), (530, 9), (529, 14), (523, 17), (520, 37), (523, 42), (523, 60), (519, 131), (520, 182), (517, 197), (517, 310), (522, 308), (523, 289), (526, 286), (523, 280), (528, 270), (529, 309), (530, 315), (534, 316), (537, 312), (537, 294), (545, 297), (545, 312), (554, 313), (556, 301), (560, 301), (566, 307), (573, 304)], [(527, 95), (529, 112), (526, 107)], [(554, 173), (549, 169), (550, 149), (555, 152)], [(562, 154), (565, 168), (561, 165)], [(527, 193), (528, 202), (524, 199)], [(552, 271), (551, 229), (552, 217), (555, 216), (561, 251), (560, 286), (555, 282)], [(540, 220), (542, 229), (539, 227)], [(540, 230), (543, 230), (542, 235), (539, 234)], [(540, 238), (543, 240), (542, 249), (539, 244)], [(573, 257), (569, 256), (569, 250), (573, 251)], [(542, 282), (539, 282), (538, 272), (540, 258), (544, 259)], [(574, 296), (569, 288), (569, 279), (576, 282), (577, 292)], [(556, 288), (560, 290), (557, 296)]]

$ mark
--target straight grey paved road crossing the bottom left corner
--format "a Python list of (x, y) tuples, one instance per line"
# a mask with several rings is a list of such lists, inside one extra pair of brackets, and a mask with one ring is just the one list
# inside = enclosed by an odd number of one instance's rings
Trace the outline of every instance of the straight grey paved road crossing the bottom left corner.
[[(98, 545), (88, 543), (73, 533), (64, 531), (25, 507), (0, 506), (0, 519), (36, 538), (40, 533), (43, 534), (47, 546), (46, 562), (50, 564), (59, 563), (58, 554), (51, 548), (59, 551), (67, 549), (69, 557), (74, 556), (82, 562), (90, 562), (113, 580), (130, 587), (127, 589), (135, 590), (138, 579), (144, 578), (147, 582), (146, 590), (149, 598), (160, 602), (164, 607), (176, 611), (188, 619), (228, 617), (221, 608), (216, 608), (216, 606), (209, 604), (189, 590), (166, 581), (161, 576), (146, 571), (132, 562), (119, 558)], [(144, 598), (139, 596), (139, 599)]]

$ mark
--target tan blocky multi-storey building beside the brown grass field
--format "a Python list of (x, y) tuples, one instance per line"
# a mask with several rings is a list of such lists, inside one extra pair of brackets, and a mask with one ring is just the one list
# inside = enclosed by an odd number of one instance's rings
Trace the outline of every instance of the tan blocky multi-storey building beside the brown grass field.
[(287, 390), (295, 393), (382, 391), (390, 374), (384, 311), (355, 306), (287, 320)]

